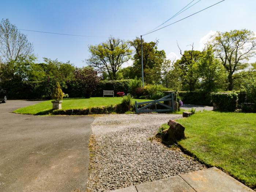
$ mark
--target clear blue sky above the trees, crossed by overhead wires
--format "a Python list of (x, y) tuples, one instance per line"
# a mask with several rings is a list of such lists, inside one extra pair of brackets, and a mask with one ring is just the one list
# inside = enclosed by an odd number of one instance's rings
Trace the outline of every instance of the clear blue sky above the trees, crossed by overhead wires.
[[(194, 2), (196, 2), (195, 0)], [(201, 0), (166, 24), (208, 7), (220, 0)], [(8, 18), (18, 29), (101, 37), (74, 37), (22, 31), (42, 57), (86, 65), (88, 45), (106, 41), (109, 35), (125, 40), (160, 25), (191, 0), (2, 0), (0, 18)], [(214, 7), (165, 29), (144, 36), (159, 39), (158, 49), (169, 58), (179, 56), (194, 43), (200, 49), (214, 31), (249, 29), (256, 32), (256, 0), (225, 0)], [(254, 61), (254, 60), (253, 60)]]

